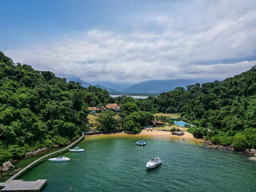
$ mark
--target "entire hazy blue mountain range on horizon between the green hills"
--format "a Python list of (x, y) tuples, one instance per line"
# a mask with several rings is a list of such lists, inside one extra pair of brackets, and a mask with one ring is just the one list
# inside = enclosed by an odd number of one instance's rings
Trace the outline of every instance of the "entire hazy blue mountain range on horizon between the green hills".
[(66, 78), (66, 79), (67, 79), (67, 82), (69, 81), (80, 82), (84, 87), (94, 85), (96, 87), (106, 89), (110, 94), (111, 93), (115, 93), (115, 94), (117, 93), (162, 93), (162, 92), (171, 91), (176, 87), (186, 88), (187, 85), (214, 81), (214, 80), (191, 80), (191, 79), (149, 80), (149, 81), (144, 81), (144, 82), (140, 82), (138, 84), (133, 84), (133, 85), (131, 85), (131, 83), (123, 83), (118, 85), (108, 81), (90, 81), (90, 83), (87, 83), (79, 78)]

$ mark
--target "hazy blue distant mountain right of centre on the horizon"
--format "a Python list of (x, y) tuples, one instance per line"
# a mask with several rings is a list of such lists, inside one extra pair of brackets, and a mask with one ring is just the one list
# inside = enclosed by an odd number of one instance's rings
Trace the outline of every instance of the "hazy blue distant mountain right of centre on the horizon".
[[(202, 81), (202, 80), (201, 80)], [(175, 89), (176, 87), (184, 87), (201, 81), (179, 79), (179, 80), (149, 80), (144, 81), (122, 90), (127, 93), (162, 93)]]

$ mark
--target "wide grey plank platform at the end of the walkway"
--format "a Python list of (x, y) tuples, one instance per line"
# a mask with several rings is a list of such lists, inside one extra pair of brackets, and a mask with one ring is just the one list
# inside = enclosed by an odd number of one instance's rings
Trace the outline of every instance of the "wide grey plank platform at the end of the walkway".
[(47, 179), (38, 179), (36, 181), (12, 180), (1, 190), (5, 192), (39, 192), (46, 185)]

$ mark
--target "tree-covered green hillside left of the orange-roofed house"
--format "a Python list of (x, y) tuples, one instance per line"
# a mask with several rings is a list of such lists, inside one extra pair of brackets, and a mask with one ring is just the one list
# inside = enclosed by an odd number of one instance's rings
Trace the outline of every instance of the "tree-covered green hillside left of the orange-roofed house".
[(0, 164), (78, 138), (89, 104), (109, 98), (106, 90), (14, 64), (0, 52)]

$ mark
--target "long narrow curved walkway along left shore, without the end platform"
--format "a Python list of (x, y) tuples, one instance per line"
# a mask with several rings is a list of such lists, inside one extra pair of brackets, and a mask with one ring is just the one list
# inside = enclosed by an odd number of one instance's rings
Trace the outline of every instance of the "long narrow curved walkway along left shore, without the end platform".
[(76, 141), (74, 141), (73, 143), (71, 143), (68, 147), (65, 147), (65, 148), (60, 149), (60, 150), (58, 150), (58, 151), (52, 152), (52, 153), (50, 153), (50, 154), (47, 154), (47, 155), (45, 155), (45, 156), (43, 156), (43, 157), (41, 157), (41, 158), (39, 158), (39, 159), (33, 161), (33, 162), (30, 163), (28, 166), (26, 166), (26, 167), (24, 167), (22, 170), (20, 170), (18, 173), (15, 173), (12, 177), (10, 177), (9, 179), (7, 179), (7, 180), (6, 180), (6, 183), (8, 183), (8, 182), (12, 181), (13, 179), (15, 179), (16, 177), (18, 177), (18, 176), (24, 174), (24, 173), (26, 172), (26, 170), (29, 170), (33, 165), (36, 165), (36, 163), (39, 163), (39, 162), (41, 162), (42, 160), (46, 160), (46, 159), (48, 159), (48, 157), (51, 157), (52, 155), (53, 155), (53, 156), (54, 156), (54, 155), (59, 155), (59, 154), (61, 154), (61, 153), (66, 152), (68, 149), (70, 149), (70, 147), (73, 147), (74, 145), (76, 145), (77, 143), (79, 143), (80, 141), (82, 141), (83, 139), (84, 139), (84, 134), (82, 134), (82, 136), (81, 136), (79, 139), (77, 139)]

